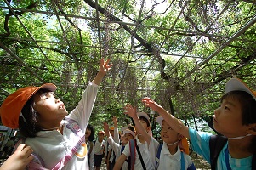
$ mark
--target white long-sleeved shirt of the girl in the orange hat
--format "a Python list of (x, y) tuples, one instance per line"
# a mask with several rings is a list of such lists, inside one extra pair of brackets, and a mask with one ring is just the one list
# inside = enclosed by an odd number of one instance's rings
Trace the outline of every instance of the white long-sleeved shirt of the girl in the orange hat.
[[(89, 82), (87, 89), (82, 94), (82, 99), (77, 107), (66, 116), (77, 122), (82, 133), (85, 133), (89, 117), (94, 106), (97, 90), (99, 86), (93, 82)], [(69, 128), (64, 126), (63, 135), (58, 131), (40, 131), (35, 138), (26, 138), (25, 143), (34, 150), (35, 155), (39, 156), (44, 165), (48, 169), (52, 169), (62, 160), (68, 150), (77, 144), (77, 136)], [(81, 170), (88, 169), (88, 156), (79, 158), (72, 156), (62, 170)]]

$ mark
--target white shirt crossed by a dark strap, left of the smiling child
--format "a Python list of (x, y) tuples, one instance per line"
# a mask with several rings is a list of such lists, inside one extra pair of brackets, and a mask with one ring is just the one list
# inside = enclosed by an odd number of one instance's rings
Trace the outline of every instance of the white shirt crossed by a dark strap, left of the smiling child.
[[(148, 149), (148, 144), (142, 144), (139, 142), (139, 139), (136, 137), (136, 142), (137, 142), (137, 145), (139, 147), (139, 151), (140, 151), (140, 154), (142, 156), (142, 159), (144, 161), (144, 164), (145, 164), (145, 169), (146, 170), (154, 170), (154, 166), (153, 166), (153, 163), (151, 162), (151, 157), (150, 157), (150, 150)], [(127, 158), (128, 156), (130, 156), (130, 145), (129, 145), (129, 142), (128, 144), (126, 144), (123, 152), (122, 152)], [(135, 163), (134, 163), (134, 169), (136, 170), (143, 170), (143, 167), (141, 165), (141, 162), (139, 160), (139, 154), (138, 154), (138, 151), (136, 150), (136, 156), (135, 156)]]

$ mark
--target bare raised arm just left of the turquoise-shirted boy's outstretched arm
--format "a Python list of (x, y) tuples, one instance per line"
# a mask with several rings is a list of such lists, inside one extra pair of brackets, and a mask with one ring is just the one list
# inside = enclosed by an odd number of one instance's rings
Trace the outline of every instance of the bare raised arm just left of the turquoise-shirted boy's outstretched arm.
[(135, 123), (135, 127), (137, 127), (136, 129), (138, 129), (139, 133), (141, 133), (143, 135), (143, 137), (145, 138), (145, 141), (147, 142), (147, 144), (150, 144), (151, 136), (146, 132), (146, 130), (143, 127), (142, 123), (139, 121), (139, 117), (137, 116), (136, 108), (133, 107), (130, 104), (127, 104), (124, 107), (124, 110), (126, 110), (125, 114), (127, 114), (128, 116), (133, 118), (134, 123)]

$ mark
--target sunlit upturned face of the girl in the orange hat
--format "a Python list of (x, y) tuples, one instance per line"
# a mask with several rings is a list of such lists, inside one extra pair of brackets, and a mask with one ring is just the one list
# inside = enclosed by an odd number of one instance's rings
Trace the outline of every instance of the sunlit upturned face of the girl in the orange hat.
[(45, 93), (42, 95), (35, 94), (33, 99), (33, 108), (39, 114), (38, 123), (42, 127), (44, 127), (46, 123), (48, 124), (47, 126), (55, 126), (68, 114), (63, 102), (61, 102), (60, 99), (56, 99), (53, 93)]

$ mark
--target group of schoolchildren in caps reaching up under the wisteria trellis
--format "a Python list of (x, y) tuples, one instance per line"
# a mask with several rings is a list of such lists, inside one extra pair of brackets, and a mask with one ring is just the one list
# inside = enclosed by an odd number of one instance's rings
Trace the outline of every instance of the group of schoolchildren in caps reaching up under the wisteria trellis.
[(144, 98), (143, 104), (159, 114), (156, 122), (162, 143), (151, 134), (149, 116), (130, 104), (124, 110), (134, 126), (120, 128), (114, 116), (113, 127), (104, 122), (104, 131), (94, 139), (94, 127), (88, 122), (100, 82), (111, 69), (109, 61), (100, 60), (100, 71), (70, 114), (55, 97), (54, 84), (10, 94), (0, 108), (3, 125), (19, 128), (25, 138), (0, 170), (100, 170), (104, 157), (108, 170), (191, 170), (196, 167), (189, 156), (188, 139), (192, 150), (212, 169), (256, 169), (256, 92), (238, 78), (226, 83), (221, 105), (213, 114), (214, 129), (223, 136), (186, 127), (154, 100)]

